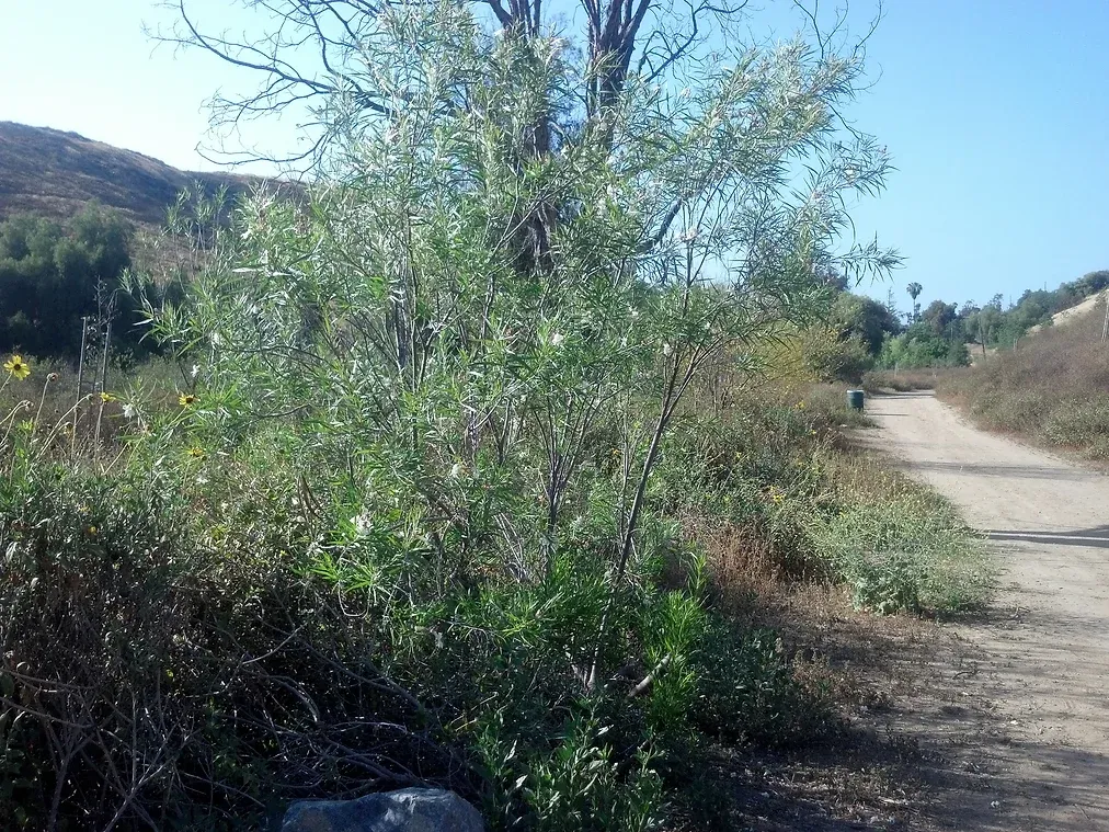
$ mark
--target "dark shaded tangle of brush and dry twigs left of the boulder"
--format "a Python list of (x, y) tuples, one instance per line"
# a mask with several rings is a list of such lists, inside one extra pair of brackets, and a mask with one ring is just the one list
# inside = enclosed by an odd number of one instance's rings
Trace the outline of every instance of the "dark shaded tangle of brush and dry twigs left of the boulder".
[(0, 489), (3, 714), (28, 737), (4, 815), (251, 825), (305, 783), (445, 777), (376, 627), (298, 577), (303, 530), (273, 513), (260, 539), (166, 484), (40, 466)]

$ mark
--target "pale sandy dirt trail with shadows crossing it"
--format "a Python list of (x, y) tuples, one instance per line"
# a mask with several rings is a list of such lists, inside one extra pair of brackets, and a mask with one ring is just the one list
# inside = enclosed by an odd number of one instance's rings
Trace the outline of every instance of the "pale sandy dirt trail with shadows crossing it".
[(1109, 830), (1109, 477), (977, 430), (930, 394), (867, 404), (867, 444), (988, 532), (1000, 591), (923, 674), (919, 732), (958, 770), (965, 830)]

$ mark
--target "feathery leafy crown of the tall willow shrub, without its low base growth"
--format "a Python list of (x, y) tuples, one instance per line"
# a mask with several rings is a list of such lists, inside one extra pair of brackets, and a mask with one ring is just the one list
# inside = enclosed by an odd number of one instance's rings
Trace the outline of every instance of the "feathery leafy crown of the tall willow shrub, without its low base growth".
[[(861, 64), (742, 50), (586, 118), (571, 45), (458, 4), (388, 7), (359, 49), (387, 115), (307, 204), (245, 204), (155, 315), (203, 367), (196, 429), (291, 426), (313, 487), (364, 532), (415, 535), (439, 591), (543, 580), (586, 525), (611, 608), (701, 368), (820, 315), (815, 275), (896, 262), (837, 248), (845, 196), (886, 171), (837, 130)], [(607, 617), (576, 653), (587, 686)]]

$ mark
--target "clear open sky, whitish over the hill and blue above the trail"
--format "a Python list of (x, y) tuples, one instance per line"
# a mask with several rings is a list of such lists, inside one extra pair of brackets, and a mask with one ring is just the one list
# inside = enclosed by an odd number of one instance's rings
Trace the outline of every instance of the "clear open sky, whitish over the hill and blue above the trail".
[[(788, 34), (788, 3), (762, 4), (752, 30)], [(220, 28), (251, 23), (231, 0), (192, 8)], [(874, 9), (854, 1), (856, 28)], [(1109, 3), (887, 0), (884, 14), (868, 49), (876, 84), (852, 116), (898, 170), (855, 217), (905, 255), (889, 284), (902, 307), (909, 281), (925, 304), (983, 302), (1109, 267)], [(173, 19), (152, 0), (0, 0), (0, 120), (213, 168), (196, 150), (203, 103), (250, 80), (143, 33)], [(293, 136), (265, 124), (246, 141)], [(863, 288), (884, 298), (887, 286)]]

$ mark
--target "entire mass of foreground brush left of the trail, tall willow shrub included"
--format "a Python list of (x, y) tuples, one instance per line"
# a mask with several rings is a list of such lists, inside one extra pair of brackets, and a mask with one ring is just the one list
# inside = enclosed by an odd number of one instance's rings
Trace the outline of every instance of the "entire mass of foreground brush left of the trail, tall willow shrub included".
[(726, 828), (711, 748), (842, 728), (740, 586), (988, 590), (810, 386), (888, 325), (828, 275), (898, 262), (845, 240), (887, 169), (838, 128), (862, 51), (663, 87), (456, 3), (360, 26), (305, 197), (186, 199), (185, 293), (128, 281), (172, 362), (52, 410), (67, 376), (9, 358), (0, 816), (256, 829), (436, 783), (494, 829)]

